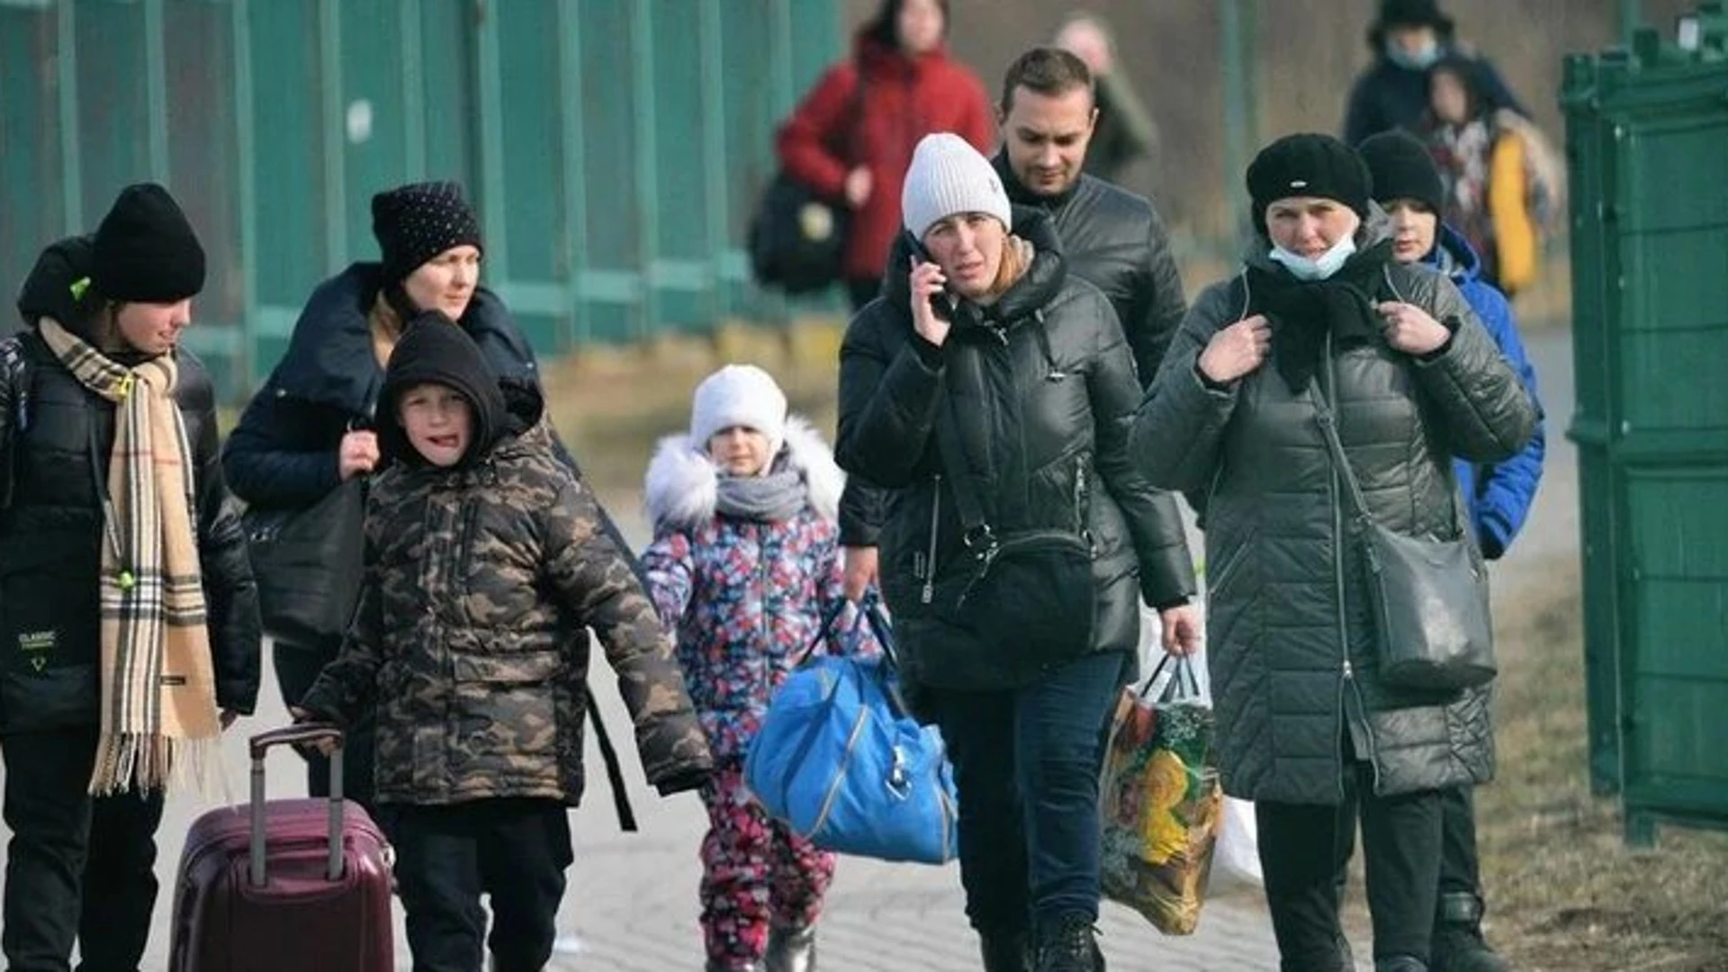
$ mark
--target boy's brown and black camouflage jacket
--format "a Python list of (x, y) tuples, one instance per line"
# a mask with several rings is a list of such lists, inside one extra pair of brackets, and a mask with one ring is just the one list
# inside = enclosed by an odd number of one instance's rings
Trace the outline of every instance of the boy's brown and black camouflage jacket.
[(380, 803), (575, 804), (584, 626), (619, 675), (648, 782), (700, 782), (712, 761), (672, 640), (532, 422), (479, 462), (396, 464), (373, 483), (359, 607), (301, 707), (339, 723), (375, 711)]

